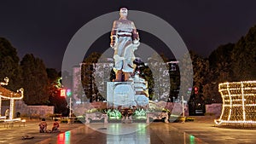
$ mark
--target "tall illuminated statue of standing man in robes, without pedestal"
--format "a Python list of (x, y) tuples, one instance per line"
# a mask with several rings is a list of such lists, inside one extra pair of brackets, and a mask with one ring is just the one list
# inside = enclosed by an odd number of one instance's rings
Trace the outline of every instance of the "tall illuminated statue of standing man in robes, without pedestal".
[(139, 36), (134, 23), (127, 20), (128, 9), (121, 8), (119, 20), (113, 21), (110, 46), (114, 49), (113, 59), (116, 78), (115, 82), (125, 81), (130, 78), (133, 72), (134, 50), (139, 46)]

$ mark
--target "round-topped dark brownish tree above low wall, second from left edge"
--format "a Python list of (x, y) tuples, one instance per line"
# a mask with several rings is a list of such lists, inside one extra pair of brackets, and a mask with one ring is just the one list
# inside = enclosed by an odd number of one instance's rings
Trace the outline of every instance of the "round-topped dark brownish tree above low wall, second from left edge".
[(49, 103), (48, 78), (43, 60), (32, 54), (25, 55), (20, 61), (23, 78), (24, 101), (27, 105)]

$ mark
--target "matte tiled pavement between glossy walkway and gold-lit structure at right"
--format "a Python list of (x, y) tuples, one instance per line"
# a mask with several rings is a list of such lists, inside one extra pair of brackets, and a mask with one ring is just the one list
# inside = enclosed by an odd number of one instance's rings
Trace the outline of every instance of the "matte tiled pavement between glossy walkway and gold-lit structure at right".
[[(195, 122), (178, 124), (172, 123), (177, 130), (188, 135), (195, 136), (195, 140), (207, 143), (218, 144), (255, 144), (256, 127), (242, 127), (241, 125), (221, 125), (214, 124), (213, 118), (201, 117)], [(193, 137), (192, 136), (192, 137)]]

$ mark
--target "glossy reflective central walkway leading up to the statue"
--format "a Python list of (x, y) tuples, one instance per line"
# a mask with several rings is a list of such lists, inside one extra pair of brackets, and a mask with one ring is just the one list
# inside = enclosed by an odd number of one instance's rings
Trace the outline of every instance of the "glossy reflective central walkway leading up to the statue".
[[(44, 143), (43, 141), (40, 143)], [(148, 144), (148, 143), (206, 143), (194, 135), (186, 134), (171, 124), (86, 124), (61, 133), (57, 140), (45, 143), (79, 144)]]

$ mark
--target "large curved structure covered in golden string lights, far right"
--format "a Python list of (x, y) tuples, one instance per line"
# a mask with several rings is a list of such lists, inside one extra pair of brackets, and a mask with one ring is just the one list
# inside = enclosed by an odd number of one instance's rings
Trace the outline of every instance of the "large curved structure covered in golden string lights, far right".
[(223, 105), (215, 124), (256, 124), (256, 81), (218, 84)]

